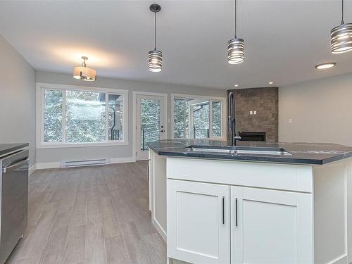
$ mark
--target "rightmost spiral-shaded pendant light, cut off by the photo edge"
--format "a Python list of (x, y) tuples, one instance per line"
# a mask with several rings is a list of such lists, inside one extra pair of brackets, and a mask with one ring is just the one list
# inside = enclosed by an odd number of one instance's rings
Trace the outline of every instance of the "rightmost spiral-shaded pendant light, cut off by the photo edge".
[(342, 0), (341, 25), (331, 30), (331, 52), (332, 54), (343, 54), (352, 50), (352, 24), (344, 23), (344, 0)]

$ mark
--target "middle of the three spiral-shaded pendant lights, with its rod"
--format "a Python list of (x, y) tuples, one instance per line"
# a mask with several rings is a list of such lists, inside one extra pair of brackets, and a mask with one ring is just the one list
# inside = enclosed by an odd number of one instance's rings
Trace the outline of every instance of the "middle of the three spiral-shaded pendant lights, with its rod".
[(234, 0), (234, 39), (227, 42), (227, 62), (239, 64), (244, 61), (244, 40), (237, 38), (237, 0)]

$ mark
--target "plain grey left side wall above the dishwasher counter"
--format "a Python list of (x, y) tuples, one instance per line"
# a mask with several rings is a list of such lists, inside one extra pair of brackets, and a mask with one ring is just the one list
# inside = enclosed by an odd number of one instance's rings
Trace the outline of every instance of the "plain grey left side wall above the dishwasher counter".
[(35, 70), (0, 35), (0, 144), (29, 143), (35, 163)]

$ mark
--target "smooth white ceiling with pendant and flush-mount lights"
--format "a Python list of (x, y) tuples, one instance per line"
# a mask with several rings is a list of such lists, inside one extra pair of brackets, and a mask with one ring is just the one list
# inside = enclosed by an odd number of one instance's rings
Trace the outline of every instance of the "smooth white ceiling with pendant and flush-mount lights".
[[(341, 1), (239, 0), (244, 63), (227, 63), (233, 1), (156, 1), (163, 71), (150, 73), (153, 1), (1, 1), (0, 34), (37, 70), (72, 73), (80, 56), (99, 77), (229, 89), (283, 86), (352, 72), (352, 52), (332, 55), (329, 30)], [(345, 1), (352, 22), (352, 1)], [(330, 70), (314, 66), (335, 61)]]

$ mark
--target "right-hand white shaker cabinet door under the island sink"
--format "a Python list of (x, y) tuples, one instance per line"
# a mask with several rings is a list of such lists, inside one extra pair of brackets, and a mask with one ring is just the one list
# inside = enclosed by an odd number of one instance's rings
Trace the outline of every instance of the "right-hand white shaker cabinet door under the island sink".
[(311, 194), (231, 187), (231, 262), (313, 263)]

